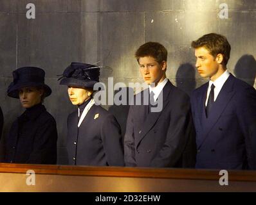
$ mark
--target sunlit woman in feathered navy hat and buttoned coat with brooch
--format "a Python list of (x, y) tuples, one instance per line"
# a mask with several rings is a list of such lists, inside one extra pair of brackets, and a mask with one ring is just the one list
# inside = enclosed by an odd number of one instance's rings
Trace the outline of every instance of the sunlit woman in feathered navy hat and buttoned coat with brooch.
[(92, 97), (100, 68), (71, 63), (60, 85), (68, 86), (69, 99), (78, 109), (68, 116), (68, 161), (70, 165), (123, 166), (120, 125)]

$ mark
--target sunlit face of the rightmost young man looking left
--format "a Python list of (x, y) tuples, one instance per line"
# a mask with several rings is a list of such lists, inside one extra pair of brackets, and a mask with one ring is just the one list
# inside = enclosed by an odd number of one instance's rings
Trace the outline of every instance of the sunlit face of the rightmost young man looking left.
[(212, 80), (219, 77), (219, 63), (205, 47), (195, 49), (196, 68), (203, 78)]

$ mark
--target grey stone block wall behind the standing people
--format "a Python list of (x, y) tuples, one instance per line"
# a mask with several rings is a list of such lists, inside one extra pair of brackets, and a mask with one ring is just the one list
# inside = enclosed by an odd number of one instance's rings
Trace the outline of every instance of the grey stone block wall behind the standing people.
[[(26, 4), (35, 4), (35, 19), (26, 19)], [(219, 4), (228, 4), (228, 19), (219, 18)], [(58, 162), (66, 163), (66, 118), (75, 109), (57, 74), (71, 61), (113, 68), (102, 73), (116, 82), (142, 82), (134, 52), (156, 41), (169, 51), (167, 77), (188, 94), (206, 82), (194, 68), (190, 42), (205, 33), (221, 33), (232, 45), (228, 69), (255, 86), (255, 0), (0, 0), (0, 106), (5, 116), (2, 142), (24, 110), (6, 95), (12, 71), (41, 67), (53, 94), (44, 104), (59, 132)], [(256, 86), (255, 86), (256, 87)], [(107, 107), (108, 108), (108, 107)], [(109, 108), (125, 129), (126, 106)], [(3, 156), (4, 147), (1, 147)]]

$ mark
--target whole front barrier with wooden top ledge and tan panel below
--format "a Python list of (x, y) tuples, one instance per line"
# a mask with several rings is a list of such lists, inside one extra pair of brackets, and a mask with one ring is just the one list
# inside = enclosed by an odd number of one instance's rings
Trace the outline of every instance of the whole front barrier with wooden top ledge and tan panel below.
[[(26, 185), (28, 170), (36, 186)], [(256, 171), (228, 171), (228, 186), (219, 184), (220, 177), (219, 170), (0, 163), (2, 192), (256, 192)]]

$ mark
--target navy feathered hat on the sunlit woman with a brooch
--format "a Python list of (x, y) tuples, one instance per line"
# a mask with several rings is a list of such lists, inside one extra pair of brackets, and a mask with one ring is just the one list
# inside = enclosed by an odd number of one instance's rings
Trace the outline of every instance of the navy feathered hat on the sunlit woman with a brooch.
[(93, 88), (99, 82), (100, 67), (87, 63), (72, 62), (63, 72), (60, 85)]

